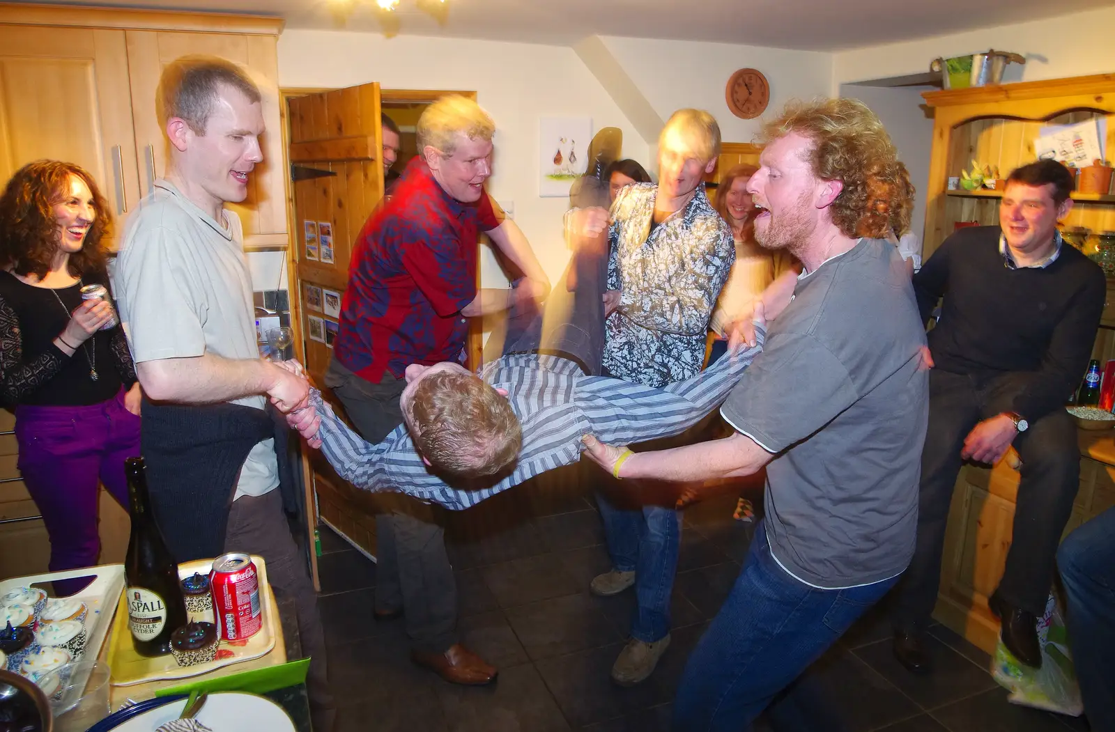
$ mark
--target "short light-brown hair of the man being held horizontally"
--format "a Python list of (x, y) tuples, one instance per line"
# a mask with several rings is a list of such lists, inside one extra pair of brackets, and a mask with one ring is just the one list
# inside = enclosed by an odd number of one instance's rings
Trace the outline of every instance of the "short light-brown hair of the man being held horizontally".
[(511, 403), (473, 374), (438, 371), (424, 377), (408, 408), (415, 446), (439, 472), (492, 476), (523, 447), (523, 430)]

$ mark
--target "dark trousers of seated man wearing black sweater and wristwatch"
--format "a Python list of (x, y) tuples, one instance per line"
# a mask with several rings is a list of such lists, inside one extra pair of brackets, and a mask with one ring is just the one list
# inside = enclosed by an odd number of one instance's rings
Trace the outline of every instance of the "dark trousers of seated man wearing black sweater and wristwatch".
[[(1021, 384), (1012, 374), (978, 379), (933, 369), (929, 374), (929, 431), (921, 455), (918, 544), (899, 584), (892, 621), (902, 629), (929, 624), (937, 603), (952, 488), (964, 438), (981, 420), (1009, 411)], [(1014, 447), (1022, 461), (1014, 539), (996, 593), (1040, 617), (1053, 585), (1055, 554), (1079, 488), (1076, 427), (1064, 409), (1030, 422)]]

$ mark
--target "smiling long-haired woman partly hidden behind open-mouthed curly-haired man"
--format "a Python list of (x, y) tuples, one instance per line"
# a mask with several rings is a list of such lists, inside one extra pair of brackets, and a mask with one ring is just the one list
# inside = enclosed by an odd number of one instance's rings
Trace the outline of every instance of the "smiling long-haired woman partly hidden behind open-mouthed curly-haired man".
[(758, 170), (754, 165), (737, 165), (728, 170), (716, 189), (714, 207), (731, 226), (736, 241), (736, 263), (720, 291), (709, 330), (716, 334), (708, 362), (719, 359), (728, 349), (728, 330), (745, 306), (758, 297), (775, 277), (786, 270), (801, 270), (793, 255), (782, 250), (764, 250), (755, 241), (755, 203), (747, 193), (747, 182)]

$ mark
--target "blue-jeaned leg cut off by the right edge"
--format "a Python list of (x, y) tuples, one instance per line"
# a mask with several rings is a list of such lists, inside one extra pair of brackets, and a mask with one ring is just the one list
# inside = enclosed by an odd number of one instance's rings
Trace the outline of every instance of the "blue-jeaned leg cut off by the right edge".
[(1068, 535), (1057, 550), (1068, 595), (1068, 643), (1092, 729), (1115, 730), (1115, 508)]

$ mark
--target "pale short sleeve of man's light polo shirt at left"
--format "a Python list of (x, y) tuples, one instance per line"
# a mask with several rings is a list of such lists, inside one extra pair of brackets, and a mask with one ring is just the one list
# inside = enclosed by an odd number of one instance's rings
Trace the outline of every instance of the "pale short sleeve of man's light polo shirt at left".
[(124, 291), (125, 331), (136, 363), (205, 354), (196, 283), (175, 232), (136, 232), (116, 273)]

